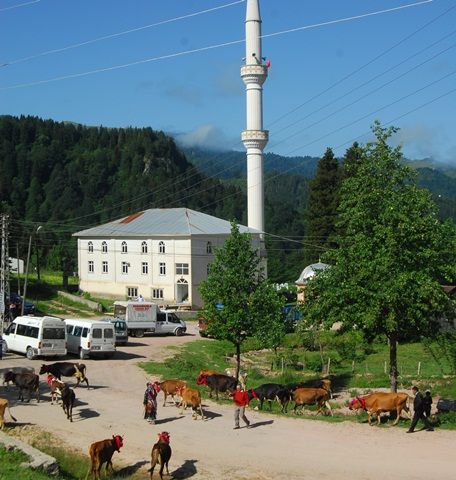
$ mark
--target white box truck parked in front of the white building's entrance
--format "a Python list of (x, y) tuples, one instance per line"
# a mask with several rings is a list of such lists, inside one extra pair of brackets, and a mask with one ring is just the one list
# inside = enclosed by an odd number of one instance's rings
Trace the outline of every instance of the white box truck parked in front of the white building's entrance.
[(160, 310), (156, 303), (121, 301), (114, 302), (114, 318), (127, 323), (128, 335), (143, 337), (146, 332), (156, 335), (183, 335), (185, 322), (172, 310)]

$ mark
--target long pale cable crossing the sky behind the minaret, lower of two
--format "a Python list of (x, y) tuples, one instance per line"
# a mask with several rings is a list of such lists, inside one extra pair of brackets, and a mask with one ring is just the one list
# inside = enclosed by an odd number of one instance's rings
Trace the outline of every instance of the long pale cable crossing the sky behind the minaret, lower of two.
[[(402, 10), (404, 8), (411, 8), (411, 7), (420, 6), (420, 5), (423, 5), (423, 4), (431, 3), (433, 1), (434, 0), (424, 0), (424, 1), (421, 1), (421, 2), (415, 2), (415, 3), (408, 4), (408, 5), (402, 5), (400, 7), (395, 7), (395, 8), (392, 8), (392, 9), (379, 10), (379, 11), (376, 11), (376, 12), (365, 13), (365, 14), (361, 14), (361, 15), (357, 15), (357, 16), (345, 17), (345, 18), (340, 18), (340, 19), (336, 19), (336, 20), (330, 20), (328, 22), (321, 22), (321, 23), (314, 24), (314, 25), (306, 25), (306, 26), (297, 27), (297, 28), (291, 29), (291, 30), (283, 30), (281, 32), (275, 32), (275, 33), (270, 33), (270, 34), (267, 34), (267, 35), (262, 35), (261, 38), (278, 36), (278, 35), (285, 35), (285, 34), (292, 33), (292, 32), (298, 31), (298, 30), (317, 28), (317, 27), (321, 27), (321, 26), (324, 26), (324, 25), (327, 25), (327, 24), (336, 24), (336, 23), (347, 22), (347, 21), (350, 21), (350, 20), (359, 20), (361, 18), (369, 17), (369, 16), (372, 16), (372, 15), (379, 15), (379, 14), (389, 13), (389, 12), (392, 12), (392, 11)], [(58, 81), (61, 81), (61, 80), (69, 80), (71, 78), (85, 77), (85, 76), (94, 75), (94, 74), (97, 74), (97, 73), (109, 72), (109, 71), (119, 70), (119, 69), (122, 69), (122, 68), (128, 68), (128, 67), (132, 67), (132, 66), (136, 66), (136, 65), (142, 65), (142, 64), (146, 64), (146, 63), (150, 63), (150, 62), (156, 62), (156, 61), (159, 61), (159, 60), (167, 60), (167, 59), (170, 59), (170, 58), (182, 57), (182, 56), (191, 55), (191, 54), (194, 54), (194, 53), (214, 50), (216, 48), (228, 47), (228, 46), (237, 45), (239, 43), (244, 43), (244, 42), (245, 42), (245, 39), (241, 39), (241, 40), (233, 40), (233, 41), (230, 41), (230, 42), (224, 42), (224, 43), (219, 43), (219, 44), (214, 44), (214, 45), (208, 45), (206, 47), (193, 48), (193, 49), (190, 49), (190, 50), (184, 50), (184, 51), (181, 51), (181, 52), (170, 53), (170, 54), (167, 54), (167, 55), (160, 55), (160, 56), (157, 56), (157, 57), (146, 58), (146, 59), (143, 59), (143, 60), (137, 60), (135, 62), (124, 63), (124, 64), (121, 64), (121, 65), (113, 65), (111, 67), (103, 67), (103, 68), (98, 68), (98, 69), (95, 69), (95, 70), (89, 70), (89, 71), (86, 71), (86, 72), (62, 75), (62, 76), (59, 76), (59, 77), (49, 78), (49, 79), (46, 79), (46, 80), (37, 80), (35, 82), (27, 82), (27, 83), (21, 83), (21, 84), (16, 84), (16, 85), (10, 85), (10, 86), (7, 86), (7, 87), (0, 87), (0, 91), (2, 91), (2, 90), (13, 90), (13, 89), (17, 89), (17, 88), (26, 88), (26, 87), (36, 86), (36, 85), (43, 85), (43, 84), (46, 84), (46, 83), (58, 82)]]

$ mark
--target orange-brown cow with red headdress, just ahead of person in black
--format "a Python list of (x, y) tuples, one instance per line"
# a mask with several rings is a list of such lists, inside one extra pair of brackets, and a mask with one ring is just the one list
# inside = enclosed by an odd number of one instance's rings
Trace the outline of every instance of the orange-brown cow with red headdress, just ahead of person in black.
[(364, 397), (355, 397), (348, 405), (350, 410), (365, 410), (368, 415), (369, 425), (372, 425), (371, 419), (377, 416), (377, 425), (380, 425), (380, 413), (396, 412), (396, 425), (401, 416), (402, 410), (405, 410), (408, 418), (411, 418), (408, 407), (409, 396), (407, 393), (374, 392)]

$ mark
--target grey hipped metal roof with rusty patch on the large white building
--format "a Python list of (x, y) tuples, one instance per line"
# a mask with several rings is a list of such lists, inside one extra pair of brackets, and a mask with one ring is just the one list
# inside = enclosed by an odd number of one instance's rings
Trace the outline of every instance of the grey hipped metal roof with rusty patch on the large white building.
[[(241, 233), (258, 230), (238, 225)], [(113, 222), (73, 233), (74, 237), (151, 237), (190, 235), (229, 235), (231, 224), (189, 208), (152, 208)]]

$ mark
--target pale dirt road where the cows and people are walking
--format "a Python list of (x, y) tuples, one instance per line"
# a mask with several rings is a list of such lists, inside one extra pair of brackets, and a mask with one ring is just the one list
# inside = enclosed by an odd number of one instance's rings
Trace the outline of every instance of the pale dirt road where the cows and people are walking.
[[(233, 410), (205, 402), (206, 421), (194, 421), (190, 412), (179, 414), (171, 404), (162, 407), (159, 395), (157, 425), (142, 419), (142, 395), (146, 374), (135, 364), (162, 358), (168, 345), (198, 339), (195, 327), (190, 335), (146, 337), (134, 345), (121, 347), (118, 358), (85, 360), (88, 377), (95, 388), (76, 389), (78, 405), (74, 422), (64, 418), (61, 407), (51, 405), (46, 394), (37, 404), (13, 402), (13, 414), (51, 431), (65, 442), (87, 452), (95, 440), (112, 434), (124, 436), (124, 448), (114, 455), (114, 466), (141, 465), (146, 472), (156, 434), (171, 433), (174, 478), (208, 480), (356, 479), (418, 480), (455, 478), (456, 433), (436, 430), (407, 435), (402, 428), (376, 428), (351, 422), (329, 424), (312, 420), (278, 418), (248, 410), (253, 428), (233, 430)], [(70, 359), (71, 361), (71, 359)], [(0, 369), (33, 366), (20, 356), (8, 356)], [(42, 392), (46, 391), (45, 386)], [(15, 392), (14, 392), (15, 395)], [(10, 389), (0, 387), (0, 396), (13, 398)], [(147, 462), (147, 464), (145, 463)], [(145, 474), (146, 478), (146, 474)], [(158, 477), (157, 477), (158, 478)]]

